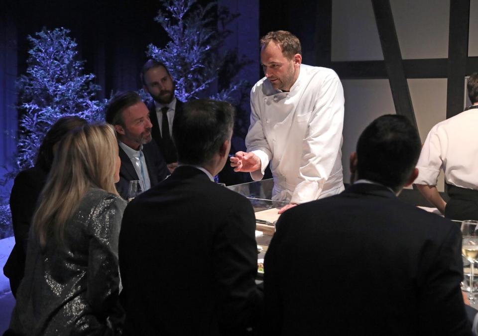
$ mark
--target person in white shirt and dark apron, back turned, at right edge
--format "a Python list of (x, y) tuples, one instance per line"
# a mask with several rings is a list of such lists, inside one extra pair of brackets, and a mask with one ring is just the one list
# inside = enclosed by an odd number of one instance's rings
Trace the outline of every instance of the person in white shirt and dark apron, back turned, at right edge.
[[(436, 124), (428, 133), (417, 163), (415, 184), (445, 217), (478, 220), (478, 73), (470, 76), (468, 96), (472, 106)], [(440, 170), (450, 201), (438, 193)]]

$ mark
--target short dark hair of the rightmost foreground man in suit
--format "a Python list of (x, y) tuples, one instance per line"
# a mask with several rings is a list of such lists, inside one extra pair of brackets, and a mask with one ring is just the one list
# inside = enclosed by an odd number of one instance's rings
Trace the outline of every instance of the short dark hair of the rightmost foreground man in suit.
[(398, 192), (407, 183), (421, 151), (416, 128), (403, 115), (382, 115), (370, 123), (357, 143), (359, 179)]

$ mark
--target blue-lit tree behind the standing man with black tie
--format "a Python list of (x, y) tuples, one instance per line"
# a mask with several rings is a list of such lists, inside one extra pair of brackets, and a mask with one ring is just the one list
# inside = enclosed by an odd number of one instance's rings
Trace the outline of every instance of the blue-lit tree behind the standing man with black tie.
[(150, 44), (146, 53), (166, 65), (176, 82), (176, 96), (184, 102), (209, 96), (239, 105), (247, 83), (233, 78), (248, 62), (239, 59), (237, 50), (220, 50), (230, 34), (226, 26), (238, 15), (216, 1), (204, 7), (196, 0), (161, 3), (155, 20), (170, 41), (164, 48)]

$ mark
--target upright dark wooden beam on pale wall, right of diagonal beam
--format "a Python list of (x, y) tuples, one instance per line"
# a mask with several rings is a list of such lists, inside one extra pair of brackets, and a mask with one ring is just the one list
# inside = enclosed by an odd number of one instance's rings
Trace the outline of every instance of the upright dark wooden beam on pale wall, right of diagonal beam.
[(450, 1), (448, 36), (447, 118), (463, 111), (468, 61), (470, 0)]

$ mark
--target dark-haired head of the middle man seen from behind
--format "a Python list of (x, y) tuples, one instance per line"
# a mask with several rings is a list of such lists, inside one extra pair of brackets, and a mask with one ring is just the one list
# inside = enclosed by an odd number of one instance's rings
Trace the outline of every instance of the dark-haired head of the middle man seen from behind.
[(199, 99), (184, 104), (181, 117), (173, 122), (179, 163), (201, 165), (211, 160), (230, 139), (234, 114), (234, 107), (226, 102)]

